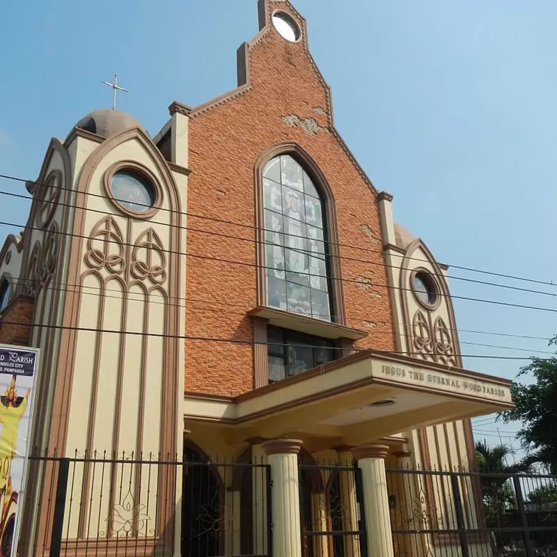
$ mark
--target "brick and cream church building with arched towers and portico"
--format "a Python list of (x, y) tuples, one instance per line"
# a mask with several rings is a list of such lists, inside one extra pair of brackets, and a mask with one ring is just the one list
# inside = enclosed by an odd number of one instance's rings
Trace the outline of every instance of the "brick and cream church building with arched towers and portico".
[[(65, 457), (62, 554), (457, 545), (393, 543), (392, 502), (411, 502), (386, 471), (473, 469), (470, 418), (512, 407), (510, 383), (462, 367), (448, 267), (393, 220), (393, 196), (336, 130), (304, 17), (259, 0), (258, 28), (232, 91), (172, 102), (155, 136), (116, 109), (76, 115), (26, 184), (29, 219), (0, 253), (0, 343), (40, 349), (30, 446), (52, 460), (29, 461), (22, 556), (49, 553)], [(134, 462), (157, 467), (154, 485)], [(251, 480), (226, 462), (255, 466)], [(304, 528), (330, 527), (316, 510), (334, 484), (322, 463), (359, 470), (337, 488), (361, 544), (304, 545)], [(214, 547), (185, 510), (211, 486), (226, 523)], [(417, 499), (444, 489), (411, 487)], [(479, 496), (462, 489), (477, 525)]]

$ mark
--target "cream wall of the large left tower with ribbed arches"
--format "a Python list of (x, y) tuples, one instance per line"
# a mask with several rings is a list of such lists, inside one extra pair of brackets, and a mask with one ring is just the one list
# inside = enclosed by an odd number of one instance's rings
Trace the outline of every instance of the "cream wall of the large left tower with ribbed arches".
[[(187, 141), (187, 138), (184, 139)], [(98, 148), (98, 143), (88, 139), (78, 138), (70, 146), (70, 155), (74, 166), (74, 180), (81, 175), (84, 165), (89, 162), (90, 155)], [(91, 268), (91, 258), (86, 258), (89, 248), (103, 249), (102, 237), (95, 237), (91, 244), (81, 242), (79, 253), (79, 309), (78, 330), (76, 333), (74, 370), (70, 409), (68, 414), (68, 434), (65, 453), (68, 456), (83, 455), (86, 448), (96, 451), (97, 457), (106, 454), (109, 457), (116, 453), (130, 457), (150, 457), (157, 459), (161, 447), (162, 426), (162, 392), (163, 377), (168, 373), (168, 362), (165, 354), (165, 334), (168, 334), (166, 319), (168, 317), (168, 274), (171, 254), (171, 234), (175, 233), (175, 226), (171, 226), (172, 211), (176, 207), (171, 205), (168, 189), (162, 186), (162, 203), (157, 213), (147, 220), (130, 219), (121, 213), (107, 198), (103, 185), (104, 173), (114, 163), (133, 161), (146, 166), (155, 176), (159, 184), (166, 183), (166, 177), (159, 171), (153, 157), (141, 141), (130, 139), (115, 146), (98, 162), (88, 188), (88, 195), (84, 196), (86, 211), (84, 212), (84, 226), (82, 234), (91, 237), (95, 234), (95, 226), (100, 221), (111, 216), (111, 226), (118, 227), (122, 235), (119, 243), (109, 244), (109, 253), (118, 255), (131, 251), (132, 246), (143, 232), (151, 229), (162, 244), (162, 250), (152, 250), (151, 265), (161, 265), (166, 271), (166, 280), (157, 285), (149, 278), (135, 280), (130, 275), (114, 276), (105, 265), (101, 269)], [(178, 253), (185, 252), (185, 213), (187, 210), (187, 176), (174, 172), (173, 178), (178, 186), (180, 196), (180, 245), (175, 246)], [(79, 235), (79, 230), (75, 231)], [(132, 244), (126, 246), (125, 244)], [(177, 249), (176, 249), (177, 248)], [(166, 250), (166, 251), (165, 251)], [(139, 249), (138, 256), (144, 256), (145, 249)], [(127, 258), (127, 265), (131, 263), (131, 255)], [(178, 258), (178, 268), (185, 269), (183, 256)], [(177, 269), (172, 269), (176, 272)], [(180, 323), (183, 324), (183, 305), (185, 298), (185, 278), (180, 278), (179, 299), (173, 299), (170, 304), (180, 306)], [(83, 329), (92, 329), (91, 331)], [(118, 331), (118, 332), (108, 332)], [(125, 331), (121, 332), (121, 331)], [(184, 334), (183, 329), (175, 334)], [(183, 343), (180, 343), (183, 346)], [(178, 362), (183, 362), (183, 347), (178, 354)], [(176, 444), (182, 451), (182, 400), (183, 400), (183, 369), (171, 370), (178, 378), (178, 392), (175, 397), (178, 402), (178, 416), (175, 428), (178, 432)], [(143, 385), (143, 391), (141, 386)], [(143, 411), (143, 414), (142, 414)], [(106, 451), (106, 453), (105, 453)], [(93, 455), (94, 453), (90, 453)], [(136, 469), (130, 471), (130, 466), (117, 465), (116, 477), (118, 485), (132, 485), (136, 493), (148, 494), (148, 478), (143, 475), (141, 480), (136, 475)], [(152, 476), (152, 473), (151, 473)], [(85, 466), (77, 466), (74, 485), (81, 485), (87, 477)], [(88, 473), (88, 491), (94, 495), (107, 489), (107, 478), (101, 487), (102, 478)], [(178, 478), (178, 488), (181, 478)], [(151, 486), (152, 488), (153, 486)], [(180, 489), (177, 489), (180, 492)], [(132, 494), (135, 495), (136, 493)], [(136, 504), (146, 504), (142, 499)], [(93, 496), (91, 516), (107, 516), (109, 514), (109, 498), (102, 499)], [(152, 503), (152, 502), (151, 502)], [(102, 508), (101, 506), (102, 505)], [(178, 505), (177, 505), (177, 510)], [(106, 524), (93, 526), (88, 535), (95, 537), (102, 533)], [(65, 528), (68, 537), (74, 538), (79, 530), (79, 515), (66, 513)], [(98, 530), (98, 532), (97, 532)]]

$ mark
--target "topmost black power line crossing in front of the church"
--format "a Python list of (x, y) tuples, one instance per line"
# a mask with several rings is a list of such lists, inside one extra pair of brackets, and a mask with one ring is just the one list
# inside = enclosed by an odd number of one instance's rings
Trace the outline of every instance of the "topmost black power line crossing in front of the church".
[[(25, 180), (24, 178), (18, 178), (17, 176), (7, 175), (7, 174), (0, 174), (0, 178), (6, 178), (7, 180), (15, 180), (17, 182), (23, 182), (23, 183), (31, 182), (35, 185), (42, 185), (42, 186), (47, 186), (47, 187), (50, 186), (49, 184), (45, 184), (44, 182), (38, 182), (36, 180)], [(58, 188), (61, 189), (61, 190), (67, 190), (67, 191), (72, 191), (74, 193), (79, 193), (80, 195), (95, 196), (95, 197), (100, 197), (100, 198), (103, 198), (103, 199), (105, 198), (105, 196), (103, 196), (102, 194), (94, 194), (91, 191), (77, 192), (76, 190), (74, 190), (72, 188), (63, 187), (62, 185), (59, 185)], [(13, 195), (13, 196), (19, 196), (19, 194), (12, 194), (11, 192), (6, 192), (6, 194)], [(26, 199), (32, 199), (32, 196), (31, 197), (30, 196), (22, 196), (22, 197), (26, 198)], [(116, 199), (116, 201), (125, 201), (125, 200)], [(65, 204), (65, 205), (68, 205), (68, 204)], [(144, 205), (142, 203), (137, 203), (137, 205), (142, 205), (144, 207), (148, 207), (148, 205)], [(218, 222), (218, 223), (225, 223), (225, 224), (232, 225), (232, 226), (240, 226), (242, 228), (250, 228), (252, 230), (260, 230), (260, 231), (262, 230), (262, 231), (275, 232), (275, 230), (270, 230), (270, 229), (260, 227), (260, 226), (255, 226), (255, 225), (252, 225), (252, 224), (240, 223), (240, 222), (230, 221), (230, 220), (226, 220), (226, 219), (217, 219), (216, 217), (207, 217), (207, 215), (194, 214), (194, 213), (191, 213), (191, 212), (178, 212), (178, 211), (175, 211), (175, 210), (172, 210), (172, 209), (168, 209), (166, 207), (159, 207), (159, 210), (160, 211), (165, 211), (165, 212), (183, 214), (185, 216), (189, 216), (189, 217), (193, 217), (193, 218), (197, 218), (197, 219), (205, 219), (205, 220), (214, 221), (214, 222)], [(112, 213), (109, 213), (109, 214), (112, 214)], [(8, 226), (17, 226), (17, 225), (8, 225)], [(304, 236), (293, 235), (293, 234), (290, 234), (290, 233), (281, 233), (281, 234), (289, 235), (289, 236), (292, 236), (292, 237), (305, 238)], [(243, 239), (243, 240), (246, 240), (246, 239)], [(333, 242), (331, 240), (325, 240), (325, 239), (323, 240), (323, 242), (325, 244), (337, 245), (337, 246), (342, 246), (342, 247), (346, 247), (346, 248), (350, 248), (350, 249), (357, 249), (357, 250), (361, 250), (361, 251), (368, 251), (370, 253), (384, 253), (383, 249), (376, 250), (376, 249), (371, 249), (371, 248), (365, 248), (363, 246), (355, 246), (355, 245), (352, 245), (352, 244), (343, 244), (343, 243), (340, 243), (340, 242)], [(393, 253), (391, 255), (395, 256), (395, 257), (400, 257), (400, 258), (405, 257), (404, 255), (398, 254), (398, 253)], [(408, 258), (408, 259), (418, 261), (418, 262), (429, 262), (428, 260), (421, 259), (421, 258)], [(376, 263), (376, 262), (369, 262), (369, 263), (378, 265), (378, 263)], [(521, 276), (513, 276), (513, 275), (509, 275), (509, 274), (486, 271), (484, 269), (476, 269), (476, 268), (473, 268), (473, 267), (466, 267), (466, 266), (462, 266), (462, 265), (451, 264), (451, 265), (449, 265), (449, 267), (453, 267), (454, 269), (461, 269), (461, 270), (468, 271), (468, 272), (476, 272), (476, 273), (487, 274), (487, 275), (491, 275), (491, 276), (499, 276), (501, 278), (512, 278), (513, 280), (517, 280), (517, 281), (531, 282), (531, 283), (543, 284), (543, 285), (549, 285), (549, 286), (556, 286), (557, 285), (553, 281), (540, 281), (540, 280), (534, 279), (534, 278), (525, 278), (525, 277), (521, 277)], [(472, 280), (472, 279), (464, 279), (462, 277), (455, 277), (455, 276), (450, 276), (450, 278), (457, 278), (457, 279), (460, 279), (460, 280)], [(494, 284), (494, 285), (496, 285), (496, 284)], [(549, 293), (549, 292), (540, 292), (540, 293), (551, 295), (551, 293)]]

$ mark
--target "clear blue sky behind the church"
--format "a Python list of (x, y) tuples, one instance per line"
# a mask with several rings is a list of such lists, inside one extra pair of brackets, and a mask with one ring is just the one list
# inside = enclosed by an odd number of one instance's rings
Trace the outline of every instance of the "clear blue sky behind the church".
[[(311, 52), (332, 87), (336, 127), (377, 188), (395, 196), (395, 220), (449, 265), (557, 282), (551, 225), (557, 3), (297, 0), (295, 6), (308, 20)], [(155, 134), (173, 100), (196, 105), (233, 88), (235, 51), (257, 32), (256, 0), (87, 6), (28, 0), (3, 3), (0, 20), (0, 173), (27, 179), (36, 178), (51, 136), (63, 139), (86, 113), (110, 106), (103, 79), (118, 72), (130, 89), (118, 107)], [(0, 189), (21, 191), (21, 185), (0, 180)], [(3, 196), (1, 202), (2, 220), (24, 223), (25, 201)], [(557, 294), (551, 285), (449, 272)], [(557, 310), (554, 296), (455, 279), (450, 286), (457, 296)], [(550, 350), (544, 340), (464, 331), (557, 332), (551, 312), (460, 299), (455, 311), (464, 354)], [(465, 365), (512, 378), (521, 362), (465, 358)], [(496, 427), (478, 421), (477, 437), (495, 441)], [(501, 434), (512, 437), (515, 430), (503, 426)]]

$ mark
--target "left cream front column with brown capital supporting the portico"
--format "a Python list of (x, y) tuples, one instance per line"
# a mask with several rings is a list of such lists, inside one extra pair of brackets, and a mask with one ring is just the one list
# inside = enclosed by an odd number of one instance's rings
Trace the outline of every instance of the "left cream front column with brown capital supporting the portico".
[(298, 480), (299, 439), (272, 439), (262, 443), (271, 466), (273, 554), (301, 557)]

